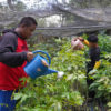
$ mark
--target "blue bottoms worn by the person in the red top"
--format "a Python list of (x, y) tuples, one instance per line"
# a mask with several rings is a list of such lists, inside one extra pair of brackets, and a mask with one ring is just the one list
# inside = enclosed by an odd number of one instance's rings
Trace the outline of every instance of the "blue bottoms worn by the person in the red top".
[(17, 101), (12, 99), (13, 91), (0, 90), (0, 111), (13, 111)]

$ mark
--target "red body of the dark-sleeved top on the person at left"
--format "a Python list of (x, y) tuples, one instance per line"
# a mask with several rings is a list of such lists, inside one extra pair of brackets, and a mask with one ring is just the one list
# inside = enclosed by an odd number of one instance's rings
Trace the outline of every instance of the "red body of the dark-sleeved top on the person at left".
[[(28, 51), (26, 40), (19, 37), (16, 37), (16, 38), (17, 38), (17, 47), (14, 51), (16, 54), (18, 54), (19, 52)], [(18, 61), (16, 60), (17, 62), (19, 62), (19, 58), (18, 58)], [(9, 60), (12, 60), (12, 58)], [(0, 62), (0, 90), (14, 90), (14, 89), (21, 88), (22, 82), (20, 81), (20, 79), (27, 77), (27, 73), (23, 70), (26, 64), (27, 64), (27, 60), (23, 61), (22, 65), (19, 65), (19, 67), (10, 67), (7, 63)]]

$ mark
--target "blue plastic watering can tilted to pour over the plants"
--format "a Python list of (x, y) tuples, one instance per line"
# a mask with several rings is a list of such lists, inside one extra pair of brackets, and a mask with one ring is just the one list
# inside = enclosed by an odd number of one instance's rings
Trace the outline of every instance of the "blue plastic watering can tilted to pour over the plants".
[(48, 68), (51, 64), (51, 58), (47, 52), (37, 50), (37, 51), (33, 51), (32, 53), (39, 53), (39, 52), (46, 54), (48, 57), (49, 62), (44, 57), (37, 54), (32, 59), (32, 61), (28, 62), (27, 65), (24, 67), (26, 73), (32, 79), (36, 79), (38, 77), (46, 75), (46, 74), (58, 73), (58, 71), (51, 70)]

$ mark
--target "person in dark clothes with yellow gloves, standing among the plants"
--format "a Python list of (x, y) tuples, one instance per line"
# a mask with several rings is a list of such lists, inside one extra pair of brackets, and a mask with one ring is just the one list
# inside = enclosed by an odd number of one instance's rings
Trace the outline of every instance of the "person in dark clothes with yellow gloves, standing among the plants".
[[(79, 38), (79, 40), (89, 47), (89, 58), (91, 61), (87, 64), (87, 83), (88, 87), (90, 87), (93, 83), (93, 80), (89, 78), (89, 72), (100, 67), (100, 48), (98, 46), (98, 37), (91, 34), (88, 37), (88, 40), (84, 40), (82, 38)], [(95, 92), (89, 90), (88, 95), (91, 101), (93, 101)]]

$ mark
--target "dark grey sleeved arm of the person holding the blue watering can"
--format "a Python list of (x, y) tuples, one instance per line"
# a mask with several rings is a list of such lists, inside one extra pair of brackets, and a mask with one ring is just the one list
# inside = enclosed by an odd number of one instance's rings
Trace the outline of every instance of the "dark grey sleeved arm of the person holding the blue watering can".
[(16, 52), (18, 38), (9, 32), (0, 41), (0, 62), (9, 67), (20, 67), (27, 60), (27, 52)]

